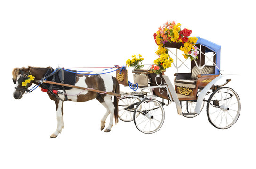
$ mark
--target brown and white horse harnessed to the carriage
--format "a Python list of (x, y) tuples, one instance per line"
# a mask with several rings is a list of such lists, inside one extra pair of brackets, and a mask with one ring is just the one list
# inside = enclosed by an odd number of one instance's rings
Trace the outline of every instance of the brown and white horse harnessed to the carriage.
[[(47, 71), (52, 67), (39, 68), (39, 67), (22, 67), (22, 68), (14, 68), (12, 71), (13, 82), (16, 84), (15, 90), (13, 92), (13, 97), (15, 99), (21, 99), (25, 92), (28, 92), (28, 88), (32, 84), (40, 85), (40, 80), (45, 76)], [(92, 74), (92, 73), (91, 73)], [(32, 75), (32, 76), (30, 76)], [(28, 79), (28, 76), (34, 77), (26, 81), (26, 86), (22, 84), (22, 81)], [(16, 83), (18, 82), (18, 83)], [(115, 77), (109, 74), (93, 74), (87, 73), (76, 74), (75, 77), (75, 86), (85, 87), (85, 88), (93, 88), (96, 90), (106, 91), (106, 92), (114, 92), (119, 93), (119, 83)], [(41, 88), (42, 85), (40, 85)], [(60, 92), (64, 92), (63, 90), (59, 90)], [(56, 138), (58, 134), (62, 132), (64, 128), (63, 122), (63, 101), (65, 98), (68, 101), (75, 102), (85, 102), (92, 99), (98, 100), (105, 108), (106, 113), (101, 119), (100, 129), (103, 130), (105, 128), (105, 121), (108, 115), (110, 114), (110, 122), (108, 127), (104, 130), (104, 132), (110, 132), (113, 126), (113, 119), (115, 118), (115, 123), (118, 123), (118, 98), (114, 97), (114, 102), (112, 102), (112, 95), (109, 94), (99, 94), (98, 92), (92, 91), (82, 91), (81, 89), (72, 88), (70, 90), (65, 91), (66, 94), (56, 94), (57, 97), (54, 97), (54, 94), (46, 92), (51, 100), (55, 102), (56, 111), (57, 111), (57, 129), (51, 134), (51, 138)], [(77, 95), (78, 94), (78, 95)]]

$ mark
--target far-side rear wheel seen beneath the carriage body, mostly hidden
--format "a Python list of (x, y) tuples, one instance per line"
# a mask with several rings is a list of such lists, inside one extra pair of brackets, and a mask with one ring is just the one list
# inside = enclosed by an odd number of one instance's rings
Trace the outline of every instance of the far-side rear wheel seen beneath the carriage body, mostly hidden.
[[(184, 117), (193, 118), (199, 114), (195, 113), (196, 102), (194, 101), (182, 101), (181, 110)], [(200, 113), (204, 108), (204, 101), (202, 102)]]

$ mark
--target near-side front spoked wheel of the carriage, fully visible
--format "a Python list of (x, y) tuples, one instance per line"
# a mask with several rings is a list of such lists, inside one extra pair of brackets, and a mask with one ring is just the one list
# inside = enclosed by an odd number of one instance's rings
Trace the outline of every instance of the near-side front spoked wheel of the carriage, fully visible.
[(154, 99), (141, 101), (135, 108), (133, 114), (137, 129), (146, 134), (159, 131), (164, 123), (164, 116), (162, 104)]

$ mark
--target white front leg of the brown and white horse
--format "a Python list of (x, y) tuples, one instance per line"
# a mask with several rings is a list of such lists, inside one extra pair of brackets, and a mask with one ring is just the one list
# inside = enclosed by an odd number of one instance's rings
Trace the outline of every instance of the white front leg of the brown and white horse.
[(51, 138), (56, 138), (59, 133), (61, 133), (62, 128), (64, 128), (64, 122), (63, 122), (63, 102), (56, 99), (55, 100), (56, 110), (57, 110), (57, 130), (52, 133), (50, 136)]

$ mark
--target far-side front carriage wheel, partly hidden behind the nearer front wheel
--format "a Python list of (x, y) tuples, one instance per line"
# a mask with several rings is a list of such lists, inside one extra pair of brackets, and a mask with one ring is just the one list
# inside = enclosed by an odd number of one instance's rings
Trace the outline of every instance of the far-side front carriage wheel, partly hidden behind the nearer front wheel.
[(118, 117), (124, 122), (133, 121), (133, 112), (136, 105), (128, 107), (134, 103), (140, 102), (138, 98), (125, 97), (118, 101)]

